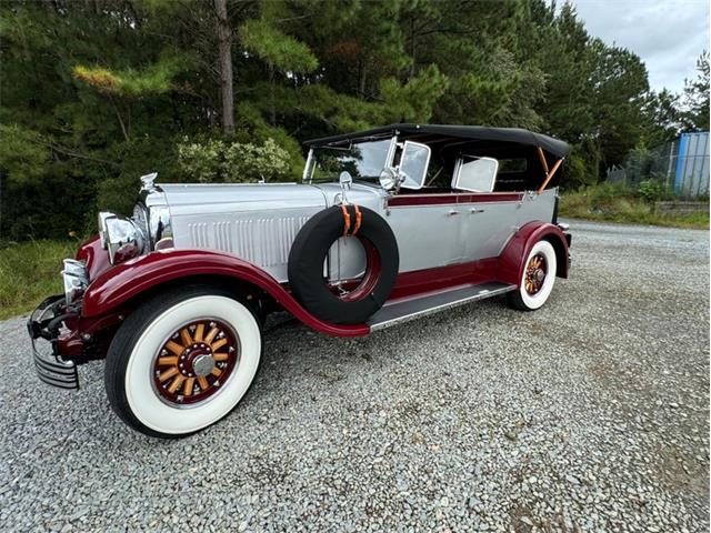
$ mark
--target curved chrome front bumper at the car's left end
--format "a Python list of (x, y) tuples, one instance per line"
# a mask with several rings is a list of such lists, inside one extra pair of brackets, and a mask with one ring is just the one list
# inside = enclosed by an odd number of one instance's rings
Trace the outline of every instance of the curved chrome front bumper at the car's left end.
[[(32, 359), (40, 380), (61, 389), (79, 389), (79, 373), (71, 361), (62, 361), (58, 353), (57, 340), (64, 320), (73, 313), (66, 313), (64, 296), (50, 296), (32, 312), (27, 322), (32, 345)], [(51, 344), (51, 353), (38, 350), (38, 340)]]

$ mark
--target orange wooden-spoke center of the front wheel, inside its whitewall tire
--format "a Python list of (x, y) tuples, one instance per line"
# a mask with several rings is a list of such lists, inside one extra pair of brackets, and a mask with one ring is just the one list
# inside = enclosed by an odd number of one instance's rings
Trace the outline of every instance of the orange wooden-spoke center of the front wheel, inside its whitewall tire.
[(189, 406), (220, 391), (239, 363), (239, 338), (219, 320), (190, 322), (162, 344), (153, 363), (153, 386), (163, 402)]

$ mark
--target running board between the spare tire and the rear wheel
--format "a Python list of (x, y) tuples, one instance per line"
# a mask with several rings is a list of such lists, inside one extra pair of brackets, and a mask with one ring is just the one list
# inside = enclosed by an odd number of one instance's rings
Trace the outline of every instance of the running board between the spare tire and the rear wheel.
[(420, 316), (444, 311), (445, 309), (514, 290), (515, 285), (495, 281), (478, 285), (460, 285), (457, 289), (430, 293), (424, 296), (385, 303), (380, 311), (370, 318), (367, 324), (370, 326), (370, 331), (382, 330)]

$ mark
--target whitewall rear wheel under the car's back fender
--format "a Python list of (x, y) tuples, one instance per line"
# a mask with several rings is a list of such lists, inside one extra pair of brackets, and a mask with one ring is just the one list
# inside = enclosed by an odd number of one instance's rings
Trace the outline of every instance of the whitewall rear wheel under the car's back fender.
[(520, 311), (541, 308), (555, 282), (555, 250), (548, 241), (538, 241), (525, 259), (525, 266), (518, 291), (507, 294), (509, 305)]

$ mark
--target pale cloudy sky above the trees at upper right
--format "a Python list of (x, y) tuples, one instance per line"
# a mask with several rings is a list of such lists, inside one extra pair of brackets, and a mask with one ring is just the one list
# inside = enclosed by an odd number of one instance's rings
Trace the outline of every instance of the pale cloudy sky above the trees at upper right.
[[(637, 53), (654, 91), (680, 92), (709, 50), (709, 0), (571, 0), (588, 33)], [(562, 4), (560, 1), (559, 6)]]

